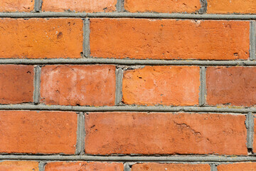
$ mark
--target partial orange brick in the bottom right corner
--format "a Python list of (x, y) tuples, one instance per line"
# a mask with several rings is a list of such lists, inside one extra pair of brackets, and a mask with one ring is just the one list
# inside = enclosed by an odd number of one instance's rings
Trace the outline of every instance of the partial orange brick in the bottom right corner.
[(256, 170), (255, 162), (242, 162), (242, 163), (234, 163), (228, 165), (218, 165), (218, 171), (254, 171)]

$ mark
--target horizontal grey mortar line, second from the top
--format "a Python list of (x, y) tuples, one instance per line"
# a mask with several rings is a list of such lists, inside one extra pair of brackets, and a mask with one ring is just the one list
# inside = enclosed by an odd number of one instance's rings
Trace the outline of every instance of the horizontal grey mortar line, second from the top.
[(54, 59), (0, 59), (0, 64), (116, 64), (116, 65), (174, 65), (174, 66), (256, 66), (256, 61), (199, 61), (199, 60), (133, 60), (114, 58), (54, 58)]

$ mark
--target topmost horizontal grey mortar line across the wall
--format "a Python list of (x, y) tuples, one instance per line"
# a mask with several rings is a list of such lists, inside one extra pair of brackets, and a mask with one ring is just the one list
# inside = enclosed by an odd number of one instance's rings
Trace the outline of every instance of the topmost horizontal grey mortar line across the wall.
[(147, 18), (147, 19), (213, 19), (213, 20), (254, 20), (255, 14), (166, 14), (166, 13), (75, 13), (75, 12), (41, 12), (41, 13), (0, 13), (1, 18), (58, 18), (58, 17), (75, 17), (75, 18)]

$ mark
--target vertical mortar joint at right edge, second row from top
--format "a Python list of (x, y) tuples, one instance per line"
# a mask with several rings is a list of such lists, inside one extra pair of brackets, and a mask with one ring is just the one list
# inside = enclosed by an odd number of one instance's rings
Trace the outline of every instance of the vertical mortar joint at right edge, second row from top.
[(255, 21), (250, 21), (250, 60), (255, 60)]

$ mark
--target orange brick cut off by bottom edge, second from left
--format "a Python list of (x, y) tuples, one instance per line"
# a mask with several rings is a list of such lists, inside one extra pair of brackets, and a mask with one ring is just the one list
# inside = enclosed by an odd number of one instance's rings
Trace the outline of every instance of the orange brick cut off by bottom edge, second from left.
[(46, 171), (63, 170), (123, 171), (124, 166), (117, 162), (49, 162), (46, 164)]

